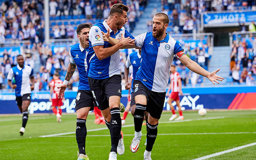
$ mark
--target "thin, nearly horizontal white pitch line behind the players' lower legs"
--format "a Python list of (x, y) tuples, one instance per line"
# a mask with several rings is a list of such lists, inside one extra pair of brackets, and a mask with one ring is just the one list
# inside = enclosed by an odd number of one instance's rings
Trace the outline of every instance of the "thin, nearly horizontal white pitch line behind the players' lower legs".
[[(166, 135), (203, 135), (203, 134), (256, 134), (256, 132), (216, 132), (216, 133), (161, 133), (157, 134), (157, 136), (166, 136)], [(146, 136), (147, 134), (142, 134)], [(86, 135), (86, 137), (108, 137), (110, 134), (103, 135)], [(124, 136), (134, 136), (134, 134), (124, 134)], [(54, 137), (76, 137), (75, 135), (69, 136), (54, 136)]]

